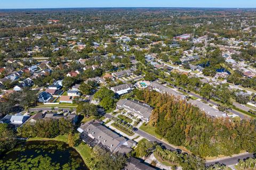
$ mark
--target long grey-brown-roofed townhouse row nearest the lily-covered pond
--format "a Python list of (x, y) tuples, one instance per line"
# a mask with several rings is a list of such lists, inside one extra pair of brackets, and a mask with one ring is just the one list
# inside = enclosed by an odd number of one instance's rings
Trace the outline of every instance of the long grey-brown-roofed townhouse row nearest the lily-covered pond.
[(137, 144), (111, 131), (101, 121), (86, 122), (77, 131), (81, 133), (81, 139), (89, 146), (94, 147), (99, 145), (107, 148), (111, 152), (127, 154), (132, 151), (131, 147), (135, 147)]

